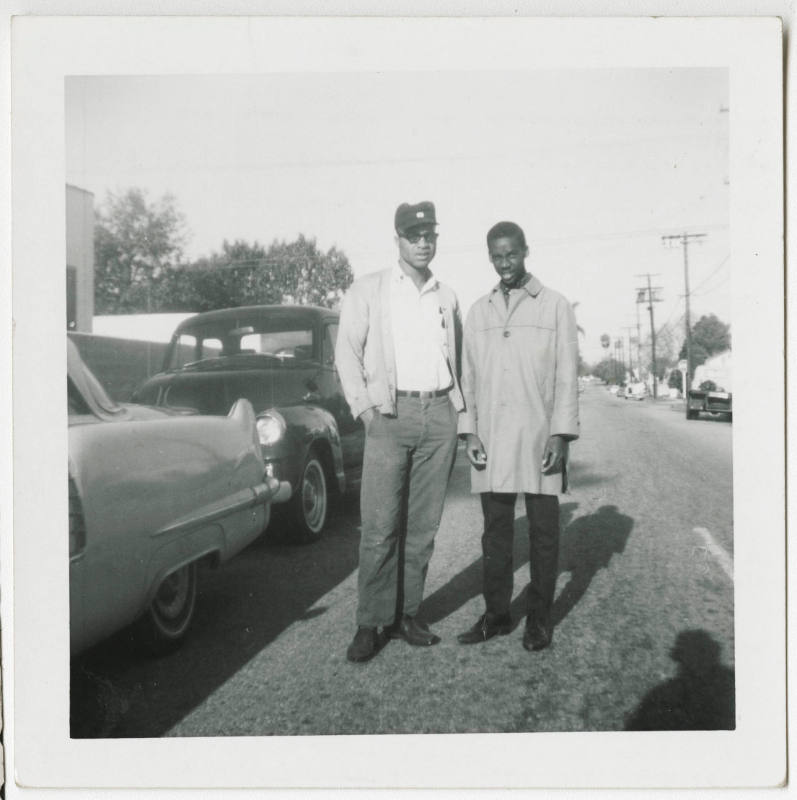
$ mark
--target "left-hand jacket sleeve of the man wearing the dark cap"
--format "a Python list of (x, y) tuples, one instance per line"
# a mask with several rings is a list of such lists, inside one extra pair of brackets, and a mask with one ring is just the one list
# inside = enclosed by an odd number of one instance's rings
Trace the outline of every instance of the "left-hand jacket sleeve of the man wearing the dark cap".
[(343, 394), (354, 417), (359, 417), (363, 411), (375, 405), (368, 396), (363, 363), (368, 319), (368, 299), (361, 286), (352, 284), (341, 304), (335, 365)]

